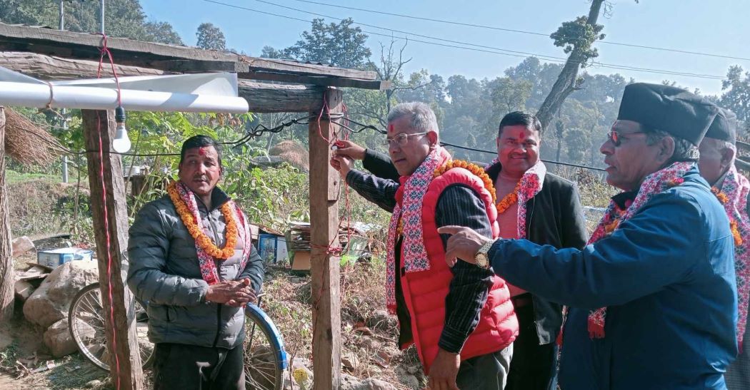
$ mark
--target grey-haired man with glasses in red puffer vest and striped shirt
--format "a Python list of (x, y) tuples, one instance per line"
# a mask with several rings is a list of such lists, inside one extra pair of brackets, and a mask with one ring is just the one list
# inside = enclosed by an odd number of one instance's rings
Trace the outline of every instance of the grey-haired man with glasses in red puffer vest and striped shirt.
[(431, 389), (502, 389), (518, 323), (505, 281), (487, 269), (445, 261), (446, 225), (469, 224), (497, 237), (492, 181), (439, 146), (434, 112), (401, 103), (388, 117), (389, 154), (399, 182), (332, 165), (360, 195), (393, 213), (386, 304), (398, 315), (402, 349), (416, 344)]

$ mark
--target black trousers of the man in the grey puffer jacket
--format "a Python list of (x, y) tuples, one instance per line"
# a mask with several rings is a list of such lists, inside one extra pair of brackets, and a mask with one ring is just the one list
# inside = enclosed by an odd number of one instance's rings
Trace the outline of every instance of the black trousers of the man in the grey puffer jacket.
[(242, 345), (226, 348), (159, 343), (154, 390), (244, 390)]

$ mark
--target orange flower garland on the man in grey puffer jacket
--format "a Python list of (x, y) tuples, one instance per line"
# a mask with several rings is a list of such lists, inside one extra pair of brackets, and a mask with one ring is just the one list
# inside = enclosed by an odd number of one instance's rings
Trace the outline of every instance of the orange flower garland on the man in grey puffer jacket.
[(190, 210), (187, 209), (187, 205), (184, 204), (184, 201), (182, 201), (180, 195), (177, 192), (177, 183), (172, 182), (171, 184), (169, 184), (169, 186), (166, 188), (166, 192), (169, 194), (169, 198), (172, 199), (172, 204), (175, 205), (175, 209), (180, 215), (185, 228), (187, 228), (187, 231), (190, 232), (190, 236), (193, 237), (193, 240), (195, 240), (195, 242), (198, 244), (198, 246), (200, 246), (201, 249), (203, 249), (211, 257), (222, 260), (231, 258), (232, 255), (234, 255), (234, 249), (237, 245), (238, 232), (237, 222), (234, 219), (234, 213), (230, 202), (226, 202), (220, 208), (221, 215), (224, 216), (224, 220), (226, 221), (226, 245), (223, 247), (223, 249), (219, 249), (213, 243), (213, 241), (211, 241), (211, 239), (208, 238), (208, 236), (206, 236), (205, 233), (203, 233), (198, 228), (195, 217), (193, 217), (193, 214), (190, 213)]

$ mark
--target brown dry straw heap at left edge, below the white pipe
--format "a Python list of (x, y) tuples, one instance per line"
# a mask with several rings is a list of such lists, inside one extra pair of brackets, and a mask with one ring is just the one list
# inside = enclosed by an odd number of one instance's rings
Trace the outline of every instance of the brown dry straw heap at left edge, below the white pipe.
[(23, 165), (49, 165), (62, 150), (57, 139), (5, 107), (5, 154)]

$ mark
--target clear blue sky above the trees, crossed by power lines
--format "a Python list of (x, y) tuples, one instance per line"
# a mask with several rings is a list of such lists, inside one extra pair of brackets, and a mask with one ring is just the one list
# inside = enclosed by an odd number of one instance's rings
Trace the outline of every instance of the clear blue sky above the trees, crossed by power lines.
[[(277, 7), (268, 2), (308, 12), (333, 16), (329, 22), (352, 17), (355, 22), (377, 25), (431, 37), (455, 40), (499, 49), (529, 52), (565, 58), (561, 48), (553, 46), (549, 37), (447, 25), (398, 16), (386, 16), (340, 7), (308, 4), (295, 0), (217, 0), (226, 4), (278, 13), (298, 19), (311, 20), (310, 13)], [(402, 13), (431, 19), (446, 19), (477, 25), (490, 25), (523, 31), (549, 34), (563, 21), (585, 15), (589, 10), (586, 0), (317, 0), (328, 4), (359, 7), (391, 13)], [(750, 58), (750, 1), (746, 0), (616, 0), (612, 14), (600, 17), (604, 25), (607, 42), (628, 43), (642, 46), (679, 49), (690, 52), (705, 52), (737, 58)], [(226, 36), (227, 46), (243, 50), (250, 55), (260, 55), (263, 46), (281, 49), (299, 40), (302, 31), (310, 28), (309, 22), (269, 16), (249, 10), (241, 10), (205, 0), (149, 0), (142, 1), (143, 9), (152, 19), (171, 23), (184, 42), (194, 45), (195, 31), (202, 22), (219, 26)], [(389, 31), (362, 26), (365, 31), (392, 34)], [(404, 34), (393, 33), (397, 37)], [(424, 40), (424, 38), (413, 37)], [(380, 55), (380, 43), (389, 43), (389, 37), (370, 35), (374, 58)], [(451, 44), (451, 43), (449, 43)], [(742, 59), (715, 58), (661, 50), (640, 49), (628, 46), (598, 43), (597, 61), (616, 66), (668, 70), (710, 76), (725, 76), (732, 64), (750, 70), (750, 61)], [(497, 55), (465, 49), (434, 46), (410, 42), (404, 51), (406, 58), (413, 58), (407, 65), (412, 72), (427, 69), (447, 79), (454, 74), (469, 78), (494, 78), (502, 76), (503, 70), (514, 66), (523, 58)], [(544, 61), (544, 60), (542, 60)], [(591, 67), (589, 73), (620, 73), (626, 78), (642, 82), (661, 82), (664, 79), (677, 82), (686, 88), (700, 88), (703, 94), (719, 94), (721, 81), (688, 76), (666, 75), (634, 70), (617, 70)]]

